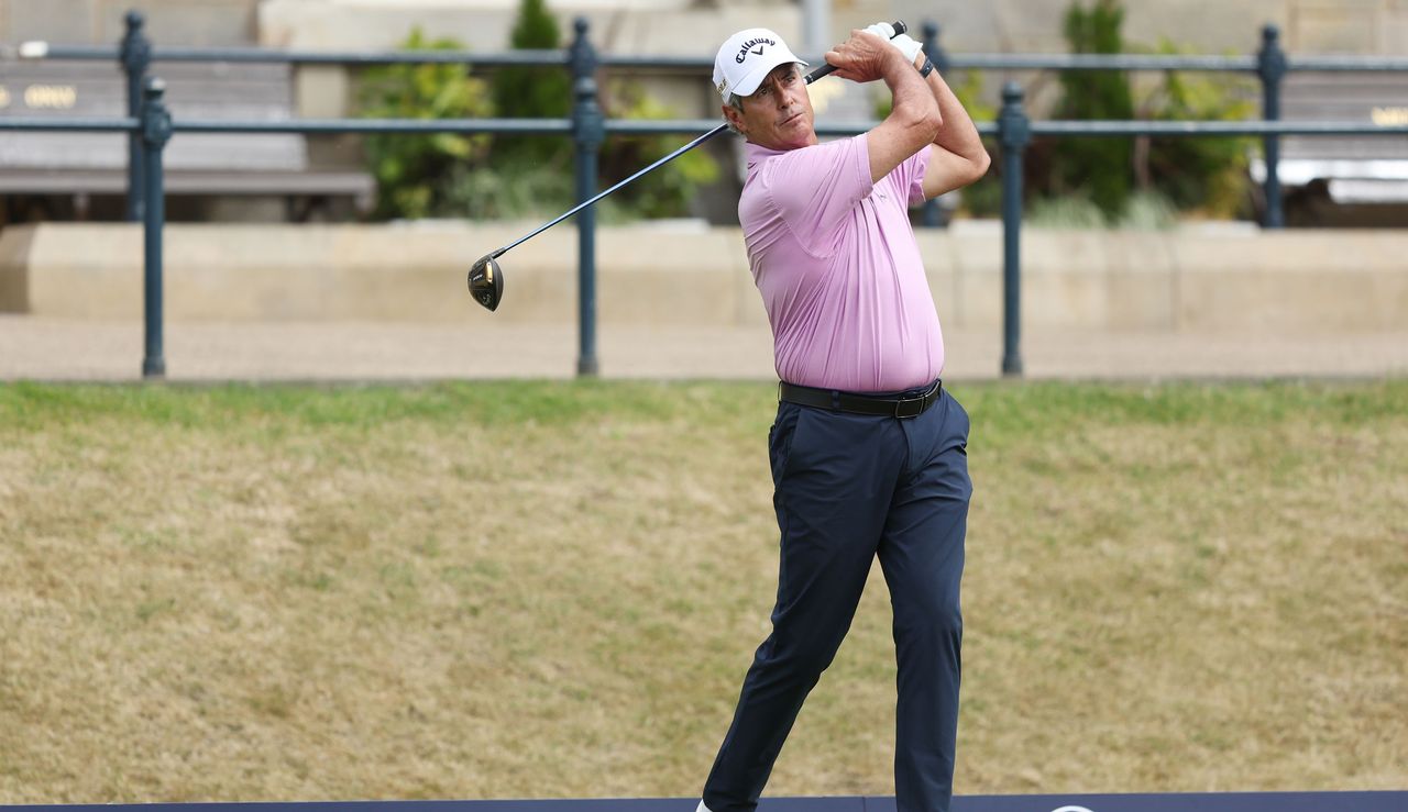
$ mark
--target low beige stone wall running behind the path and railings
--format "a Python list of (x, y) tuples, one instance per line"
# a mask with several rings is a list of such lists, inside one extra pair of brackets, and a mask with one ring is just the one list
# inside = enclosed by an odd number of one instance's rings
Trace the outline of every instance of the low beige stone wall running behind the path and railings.
[[(465, 272), (532, 225), (408, 224), (166, 228), (175, 321), (576, 319), (576, 234), (505, 255), (490, 317)], [(943, 324), (1001, 324), (995, 222), (921, 231)], [(653, 224), (598, 234), (605, 324), (762, 325), (738, 229)], [(1024, 231), (1026, 324), (1105, 331), (1364, 332), (1408, 324), (1408, 231)], [(0, 232), (0, 311), (139, 319), (135, 225), (45, 224)]]

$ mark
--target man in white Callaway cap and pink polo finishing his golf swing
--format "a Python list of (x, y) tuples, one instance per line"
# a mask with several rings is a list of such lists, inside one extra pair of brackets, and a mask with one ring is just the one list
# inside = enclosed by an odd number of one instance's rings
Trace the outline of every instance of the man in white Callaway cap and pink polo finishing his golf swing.
[(900, 812), (943, 812), (959, 713), (959, 578), (969, 419), (943, 390), (943, 336), (908, 207), (973, 183), (987, 151), (910, 37), (852, 31), (836, 76), (883, 80), (874, 129), (818, 144), (804, 65), (776, 32), (714, 59), (746, 139), (738, 218), (781, 377), (769, 438), (781, 564), (773, 630), (743, 678), (700, 812), (758, 806), (797, 712), (831, 664), (880, 557), (898, 659)]

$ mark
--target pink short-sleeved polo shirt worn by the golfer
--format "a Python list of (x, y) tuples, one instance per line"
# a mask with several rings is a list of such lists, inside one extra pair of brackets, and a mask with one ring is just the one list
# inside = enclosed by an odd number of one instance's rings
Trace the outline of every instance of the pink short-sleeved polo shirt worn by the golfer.
[(865, 135), (784, 152), (745, 146), (738, 220), (779, 377), (860, 393), (939, 377), (943, 334), (908, 217), (929, 151), (872, 183)]

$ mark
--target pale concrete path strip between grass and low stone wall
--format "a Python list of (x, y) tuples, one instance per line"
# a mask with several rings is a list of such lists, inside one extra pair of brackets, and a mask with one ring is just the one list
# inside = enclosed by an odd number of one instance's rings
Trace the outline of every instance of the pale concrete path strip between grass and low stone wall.
[[(950, 331), (949, 380), (1000, 377), (997, 331)], [(168, 380), (565, 379), (567, 326), (391, 322), (169, 324)], [(603, 377), (772, 380), (766, 328), (603, 326)], [(1177, 335), (1028, 329), (1028, 379), (1408, 376), (1408, 325), (1360, 335)], [(141, 322), (0, 315), (0, 380), (141, 379)]]

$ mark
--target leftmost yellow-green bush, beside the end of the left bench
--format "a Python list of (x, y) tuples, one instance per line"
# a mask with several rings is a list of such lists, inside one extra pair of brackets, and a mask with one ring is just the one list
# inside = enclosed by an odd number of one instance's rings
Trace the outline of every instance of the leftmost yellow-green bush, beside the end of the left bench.
[[(417, 28), (401, 44), (410, 51), (460, 51), (455, 39), (427, 41)], [(358, 93), (369, 118), (482, 118), (493, 114), (489, 90), (467, 65), (389, 65), (362, 76)], [(370, 135), (366, 155), (376, 177), (377, 218), (439, 217), (449, 212), (452, 177), (489, 155), (487, 135)]]

